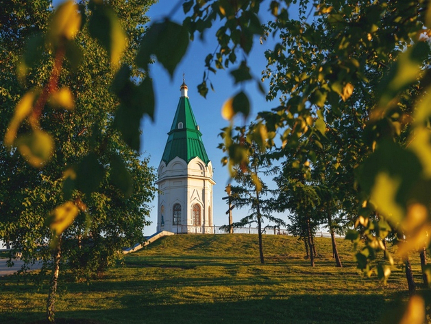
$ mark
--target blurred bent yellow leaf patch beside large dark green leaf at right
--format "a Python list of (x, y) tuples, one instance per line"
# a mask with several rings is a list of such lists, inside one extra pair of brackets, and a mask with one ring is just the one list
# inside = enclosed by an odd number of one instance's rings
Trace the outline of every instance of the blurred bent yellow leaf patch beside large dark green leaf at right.
[(375, 177), (375, 183), (371, 189), (369, 202), (374, 205), (375, 210), (381, 213), (393, 224), (401, 222), (404, 217), (404, 210), (395, 201), (395, 196), (401, 180), (391, 178), (386, 172), (380, 172)]

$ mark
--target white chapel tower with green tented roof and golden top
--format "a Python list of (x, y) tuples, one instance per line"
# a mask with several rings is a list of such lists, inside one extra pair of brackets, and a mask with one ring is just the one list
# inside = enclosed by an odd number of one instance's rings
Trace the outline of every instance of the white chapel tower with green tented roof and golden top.
[(183, 81), (158, 167), (157, 231), (212, 233), (212, 163)]

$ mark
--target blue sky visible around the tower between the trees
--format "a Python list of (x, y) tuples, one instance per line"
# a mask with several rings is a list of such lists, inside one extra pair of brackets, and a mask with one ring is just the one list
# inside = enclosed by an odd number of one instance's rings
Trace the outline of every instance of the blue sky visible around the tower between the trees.
[[(173, 0), (160, 0), (153, 5), (147, 16), (151, 18), (151, 22), (163, 19), (171, 9), (175, 6), (177, 1)], [(262, 8), (264, 6), (262, 5)], [(269, 14), (268, 14), (269, 15)], [(169, 17), (177, 22), (182, 22), (184, 13), (182, 8)], [(260, 17), (263, 23), (265, 17)], [(212, 74), (210, 80), (214, 85), (214, 90), (209, 91), (206, 99), (201, 97), (197, 92), (197, 84), (202, 82), (204, 74), (205, 58), (208, 54), (212, 53), (216, 48), (214, 34), (216, 28), (206, 32), (206, 40), (201, 42), (195, 40), (190, 43), (186, 56), (175, 70), (173, 79), (169, 73), (163, 69), (158, 63), (151, 67), (151, 78), (153, 78), (154, 90), (156, 93), (156, 115), (155, 122), (149, 119), (143, 121), (143, 138), (141, 141), (141, 151), (145, 156), (150, 156), (150, 165), (158, 167), (162, 159), (164, 145), (167, 141), (167, 132), (171, 128), (171, 123), (175, 109), (177, 108), (178, 100), (180, 99), (180, 85), (182, 84), (182, 74), (185, 73), (186, 84), (188, 86), (188, 97), (190, 104), (195, 113), (197, 124), (199, 124), (202, 132), (202, 139), (208, 153), (208, 157), (212, 161), (214, 167), (214, 224), (219, 226), (227, 224), (227, 216), (225, 211), (227, 205), (225, 200), (221, 198), (225, 196), (225, 186), (229, 181), (229, 174), (227, 168), (221, 165), (221, 158), (223, 152), (217, 149), (221, 143), (221, 137), (218, 136), (221, 128), (228, 126), (228, 122), (221, 117), (221, 106), (236, 92), (244, 89), (251, 100), (251, 113), (252, 115), (258, 111), (269, 110), (274, 106), (278, 106), (278, 102), (266, 102), (264, 96), (258, 92), (256, 82), (249, 82), (245, 87), (234, 86), (233, 79), (229, 75), (230, 69), (219, 70), (217, 74)], [(197, 38), (197, 37), (196, 37)], [(254, 76), (260, 78), (260, 73), (264, 69), (266, 60), (264, 59), (264, 49), (267, 45), (260, 45), (258, 39), (254, 42), (251, 54), (247, 58), (247, 62), (251, 67)], [(264, 88), (268, 89), (268, 84), (264, 84)], [(241, 122), (238, 120), (238, 122)], [(157, 221), (157, 198), (151, 204), (153, 210), (151, 211), (150, 220), (153, 222), (150, 227), (145, 229), (145, 235), (151, 235), (156, 231)], [(247, 209), (233, 211), (234, 221), (240, 220), (243, 216), (247, 215)], [(286, 218), (284, 218), (286, 220)]]

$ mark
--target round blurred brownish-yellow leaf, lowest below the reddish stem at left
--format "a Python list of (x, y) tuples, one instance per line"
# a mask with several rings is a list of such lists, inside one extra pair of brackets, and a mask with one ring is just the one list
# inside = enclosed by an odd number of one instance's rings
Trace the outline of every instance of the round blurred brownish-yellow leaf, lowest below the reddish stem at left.
[(16, 139), (19, 152), (34, 167), (42, 167), (52, 156), (54, 141), (43, 130), (21, 135)]

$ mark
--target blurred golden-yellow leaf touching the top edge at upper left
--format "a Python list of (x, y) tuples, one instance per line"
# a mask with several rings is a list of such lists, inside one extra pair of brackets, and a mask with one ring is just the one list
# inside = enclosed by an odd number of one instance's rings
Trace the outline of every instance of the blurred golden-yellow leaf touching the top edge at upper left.
[(81, 29), (81, 14), (75, 1), (64, 1), (53, 14), (49, 36), (54, 43), (61, 38), (73, 39)]

